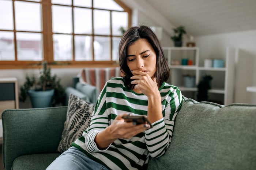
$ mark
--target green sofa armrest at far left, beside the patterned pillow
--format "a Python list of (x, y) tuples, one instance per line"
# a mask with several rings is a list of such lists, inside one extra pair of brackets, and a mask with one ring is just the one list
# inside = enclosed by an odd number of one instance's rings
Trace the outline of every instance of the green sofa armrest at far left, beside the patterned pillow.
[(56, 153), (67, 107), (7, 109), (2, 113), (3, 163), (12, 167), (20, 155)]

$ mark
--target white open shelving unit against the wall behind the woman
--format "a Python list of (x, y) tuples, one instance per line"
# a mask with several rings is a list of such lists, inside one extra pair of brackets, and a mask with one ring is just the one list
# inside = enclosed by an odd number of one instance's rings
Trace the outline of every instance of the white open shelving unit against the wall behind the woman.
[[(225, 105), (233, 103), (235, 48), (227, 47), (226, 56), (223, 56), (223, 68), (200, 65), (199, 63), (204, 63), (204, 59), (199, 57), (198, 47), (163, 47), (163, 51), (171, 71), (168, 82), (178, 86), (186, 97), (196, 100), (196, 86), (202, 76), (208, 74), (213, 78), (211, 80), (212, 88), (208, 91), (208, 99), (214, 102), (218, 100), (220, 104)], [(184, 58), (192, 60), (192, 65), (173, 64), (174, 60), (182, 63), (181, 60)], [(185, 87), (184, 75), (195, 76), (195, 87)]]

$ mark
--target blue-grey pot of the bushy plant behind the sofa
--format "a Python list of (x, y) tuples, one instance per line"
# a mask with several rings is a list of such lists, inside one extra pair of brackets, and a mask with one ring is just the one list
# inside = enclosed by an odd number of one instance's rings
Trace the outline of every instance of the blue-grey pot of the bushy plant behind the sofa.
[(54, 89), (46, 91), (29, 90), (28, 93), (33, 108), (51, 106)]

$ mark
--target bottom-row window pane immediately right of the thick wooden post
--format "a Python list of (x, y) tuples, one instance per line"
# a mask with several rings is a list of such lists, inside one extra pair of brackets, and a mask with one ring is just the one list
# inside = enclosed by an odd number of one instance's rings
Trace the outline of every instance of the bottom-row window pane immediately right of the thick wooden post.
[(53, 60), (72, 61), (72, 35), (53, 34)]

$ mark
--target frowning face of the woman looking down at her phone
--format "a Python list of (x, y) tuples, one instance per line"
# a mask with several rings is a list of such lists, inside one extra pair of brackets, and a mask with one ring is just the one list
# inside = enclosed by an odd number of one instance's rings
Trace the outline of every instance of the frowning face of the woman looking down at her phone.
[(126, 61), (130, 70), (139, 70), (154, 78), (157, 56), (146, 39), (139, 39), (128, 46)]

